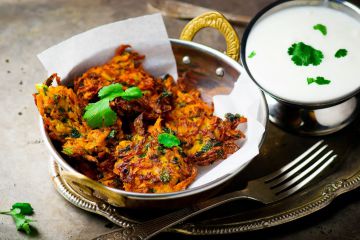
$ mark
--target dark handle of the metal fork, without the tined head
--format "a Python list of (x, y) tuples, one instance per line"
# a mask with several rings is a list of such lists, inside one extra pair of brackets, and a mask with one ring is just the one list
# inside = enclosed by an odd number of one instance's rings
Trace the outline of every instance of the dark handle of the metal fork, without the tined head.
[(248, 189), (227, 193), (204, 202), (194, 204), (190, 207), (177, 210), (167, 215), (155, 218), (143, 223), (138, 223), (130, 227), (121, 228), (104, 235), (94, 238), (94, 240), (145, 240), (149, 239), (161, 231), (174, 226), (186, 219), (199, 213), (212, 209), (216, 206), (233, 201), (235, 199), (253, 199), (249, 196)]

